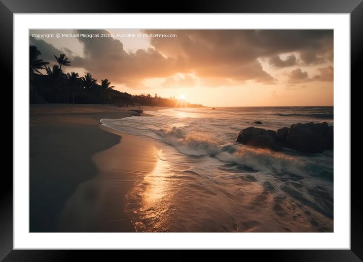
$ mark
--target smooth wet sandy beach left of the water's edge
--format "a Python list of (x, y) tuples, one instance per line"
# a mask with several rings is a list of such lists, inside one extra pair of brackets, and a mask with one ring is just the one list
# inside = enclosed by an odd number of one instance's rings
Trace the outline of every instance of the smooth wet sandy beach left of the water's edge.
[(155, 145), (99, 121), (130, 109), (30, 105), (30, 232), (134, 232), (124, 196), (153, 169)]

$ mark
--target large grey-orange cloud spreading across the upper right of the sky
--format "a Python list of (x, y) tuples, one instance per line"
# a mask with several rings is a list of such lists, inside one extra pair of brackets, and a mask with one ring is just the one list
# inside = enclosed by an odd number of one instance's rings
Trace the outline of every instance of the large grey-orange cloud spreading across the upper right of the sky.
[(221, 77), (234, 82), (253, 80), (271, 84), (274, 77), (263, 70), (258, 58), (270, 57), (276, 68), (298, 63), (296, 52), (307, 64), (331, 58), (333, 30), (144, 30), (148, 34), (175, 34), (177, 38), (152, 38), (151, 45), (166, 57), (184, 59), (198, 77)]

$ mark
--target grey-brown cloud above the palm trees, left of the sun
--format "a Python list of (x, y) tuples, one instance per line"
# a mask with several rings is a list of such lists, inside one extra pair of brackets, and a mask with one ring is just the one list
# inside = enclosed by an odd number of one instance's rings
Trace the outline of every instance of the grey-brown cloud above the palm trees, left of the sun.
[[(78, 30), (82, 34), (106, 34), (106, 30)], [(79, 38), (84, 57), (74, 57), (74, 65), (93, 72), (96, 78), (107, 77), (114, 83), (138, 87), (142, 80), (165, 78), (184, 72), (179, 61), (167, 58), (148, 48), (128, 53), (123, 44), (113, 38)]]

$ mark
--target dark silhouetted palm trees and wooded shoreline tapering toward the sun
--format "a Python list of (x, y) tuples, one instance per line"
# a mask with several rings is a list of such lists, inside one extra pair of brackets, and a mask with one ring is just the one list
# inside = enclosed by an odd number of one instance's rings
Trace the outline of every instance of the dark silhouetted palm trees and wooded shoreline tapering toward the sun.
[[(201, 105), (180, 103), (175, 97), (160, 97), (157, 94), (131, 95), (115, 90), (105, 78), (98, 82), (90, 73), (80, 76), (76, 72), (64, 73), (62, 67), (69, 67), (71, 61), (65, 54), (54, 55), (58, 64), (49, 66), (40, 59), (41, 52), (36, 46), (29, 47), (29, 97), (30, 104), (115, 104), (119, 106), (165, 106), (198, 107)], [(43, 73), (42, 73), (43, 72)]]

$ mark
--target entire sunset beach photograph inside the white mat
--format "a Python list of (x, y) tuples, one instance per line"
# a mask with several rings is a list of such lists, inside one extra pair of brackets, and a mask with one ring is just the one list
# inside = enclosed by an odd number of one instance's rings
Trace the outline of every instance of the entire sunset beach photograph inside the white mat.
[(30, 29), (29, 231), (334, 232), (333, 36)]

